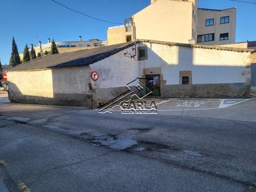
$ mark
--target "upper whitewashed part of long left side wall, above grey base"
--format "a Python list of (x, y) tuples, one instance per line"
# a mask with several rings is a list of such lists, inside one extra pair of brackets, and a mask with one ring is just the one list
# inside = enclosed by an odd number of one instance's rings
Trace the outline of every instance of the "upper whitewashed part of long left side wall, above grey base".
[(8, 71), (10, 91), (54, 98), (55, 93), (89, 93), (89, 66), (39, 71)]

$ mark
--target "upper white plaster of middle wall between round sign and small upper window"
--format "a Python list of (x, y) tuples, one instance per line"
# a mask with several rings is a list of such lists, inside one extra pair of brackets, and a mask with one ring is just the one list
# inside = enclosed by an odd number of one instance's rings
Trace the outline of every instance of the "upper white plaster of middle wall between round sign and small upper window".
[(130, 58), (129, 53), (134, 55), (132, 47), (90, 65), (91, 71), (99, 73), (99, 80), (91, 81), (96, 89), (123, 87), (139, 77), (138, 62)]

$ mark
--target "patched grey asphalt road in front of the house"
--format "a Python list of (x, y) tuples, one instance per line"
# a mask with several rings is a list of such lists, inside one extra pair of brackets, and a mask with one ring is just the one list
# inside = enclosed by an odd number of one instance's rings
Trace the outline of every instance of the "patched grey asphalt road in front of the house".
[(0, 95), (0, 191), (256, 191), (254, 104), (122, 115)]

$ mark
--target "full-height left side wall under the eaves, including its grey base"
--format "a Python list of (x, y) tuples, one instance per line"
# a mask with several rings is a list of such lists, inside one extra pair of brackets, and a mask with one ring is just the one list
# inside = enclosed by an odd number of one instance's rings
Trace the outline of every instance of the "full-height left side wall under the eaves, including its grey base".
[(89, 66), (7, 75), (12, 102), (91, 107)]

